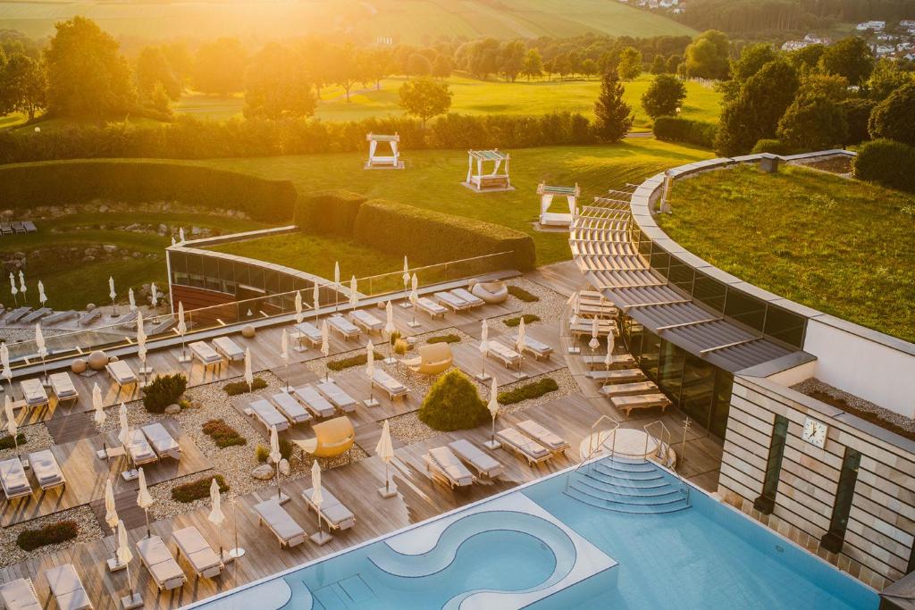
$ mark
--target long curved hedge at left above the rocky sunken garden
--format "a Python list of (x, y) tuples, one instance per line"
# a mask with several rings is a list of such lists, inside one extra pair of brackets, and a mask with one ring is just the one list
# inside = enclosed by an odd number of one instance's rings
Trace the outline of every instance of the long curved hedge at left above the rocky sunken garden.
[(264, 180), (148, 159), (0, 166), (0, 206), (4, 209), (79, 204), (96, 198), (125, 202), (178, 200), (189, 205), (238, 209), (254, 220), (281, 223), (292, 219), (296, 197), (296, 187), (288, 180)]

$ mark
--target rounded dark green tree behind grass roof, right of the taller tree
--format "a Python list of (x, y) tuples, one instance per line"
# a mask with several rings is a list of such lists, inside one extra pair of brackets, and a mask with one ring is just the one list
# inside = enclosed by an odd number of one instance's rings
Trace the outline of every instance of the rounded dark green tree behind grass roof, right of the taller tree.
[(779, 139), (804, 151), (823, 150), (845, 143), (845, 113), (822, 92), (798, 95), (779, 121)]

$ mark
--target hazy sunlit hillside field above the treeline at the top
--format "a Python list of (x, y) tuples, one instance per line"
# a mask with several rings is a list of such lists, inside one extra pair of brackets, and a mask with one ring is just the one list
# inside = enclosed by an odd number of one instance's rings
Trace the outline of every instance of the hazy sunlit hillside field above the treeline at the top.
[(115, 37), (239, 36), (246, 40), (349, 33), (431, 44), (438, 37), (571, 37), (694, 35), (665, 16), (611, 0), (231, 0), (0, 2), (0, 27), (48, 36), (54, 23), (88, 16)]

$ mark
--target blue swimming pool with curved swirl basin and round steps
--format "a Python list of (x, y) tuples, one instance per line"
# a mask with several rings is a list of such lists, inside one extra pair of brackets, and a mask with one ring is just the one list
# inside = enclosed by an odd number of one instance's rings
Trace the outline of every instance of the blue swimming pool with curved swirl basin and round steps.
[[(695, 488), (685, 501), (661, 468), (616, 464), (598, 464), (602, 478), (587, 467), (551, 476), (200, 606), (877, 608), (872, 589), (733, 508)], [(614, 478), (630, 466), (636, 484)]]

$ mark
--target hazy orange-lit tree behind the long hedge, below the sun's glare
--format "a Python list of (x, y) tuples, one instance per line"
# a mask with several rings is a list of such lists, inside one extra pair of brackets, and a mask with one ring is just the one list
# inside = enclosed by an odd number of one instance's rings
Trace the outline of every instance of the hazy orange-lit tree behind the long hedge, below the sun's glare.
[(272, 42), (251, 59), (244, 93), (245, 117), (297, 119), (314, 114), (317, 105), (305, 63), (296, 51)]

